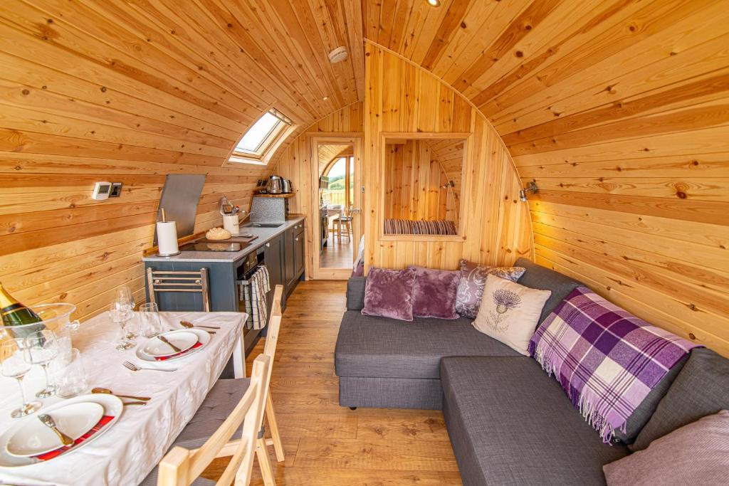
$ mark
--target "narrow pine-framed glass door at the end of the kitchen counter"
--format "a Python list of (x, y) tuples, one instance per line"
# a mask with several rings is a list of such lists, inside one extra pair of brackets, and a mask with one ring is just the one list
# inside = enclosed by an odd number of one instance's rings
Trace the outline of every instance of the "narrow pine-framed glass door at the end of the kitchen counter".
[(362, 139), (311, 138), (313, 275), (346, 280), (362, 238)]

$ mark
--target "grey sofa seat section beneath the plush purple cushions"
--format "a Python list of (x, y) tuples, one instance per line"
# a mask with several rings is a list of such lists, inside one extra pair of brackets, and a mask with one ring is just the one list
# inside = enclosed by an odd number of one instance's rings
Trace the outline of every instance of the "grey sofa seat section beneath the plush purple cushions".
[(478, 332), (467, 318), (403, 322), (348, 310), (339, 328), (335, 368), (340, 377), (437, 379), (443, 356), (521, 355)]

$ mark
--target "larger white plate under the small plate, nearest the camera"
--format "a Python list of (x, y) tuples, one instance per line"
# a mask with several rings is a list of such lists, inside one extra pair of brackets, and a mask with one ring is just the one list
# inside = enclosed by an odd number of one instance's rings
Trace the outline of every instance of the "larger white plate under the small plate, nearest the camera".
[[(50, 415), (51, 417), (55, 418), (57, 416), (57, 410), (63, 409), (66, 407), (70, 407), (73, 404), (82, 404), (82, 403), (95, 403), (102, 407), (102, 415), (113, 415), (114, 418), (107, 423), (104, 427), (101, 428), (100, 431), (93, 434), (93, 436), (90, 436), (88, 439), (86, 439), (84, 442), (81, 442), (77, 446), (75, 446), (73, 449), (68, 450), (66, 452), (63, 452), (61, 455), (57, 455), (55, 458), (48, 459), (48, 460), (39, 460), (32, 457), (20, 457), (17, 455), (12, 455), (7, 451), (7, 445), (9, 440), (15, 436), (17, 431), (20, 431), (21, 428), (26, 428), (29, 423), (36, 422), (40, 423), (40, 420), (38, 420), (38, 414), (39, 413), (46, 413)], [(55, 405), (51, 405), (50, 407), (43, 407), (38, 412), (35, 412), (33, 415), (28, 415), (25, 418), (17, 420), (17, 422), (14, 422), (11, 427), (9, 427), (6, 431), (4, 431), (2, 434), (0, 434), (0, 467), (5, 468), (15, 468), (15, 467), (22, 467), (22, 466), (31, 466), (33, 464), (42, 464), (47, 463), (49, 460), (55, 460), (57, 458), (63, 458), (66, 456), (66, 454), (71, 454), (76, 450), (79, 450), (81, 447), (86, 447), (87, 444), (90, 444), (91, 442), (95, 441), (99, 436), (102, 436), (108, 431), (110, 428), (114, 426), (114, 423), (119, 420), (120, 416), (122, 415), (122, 401), (119, 399), (119, 397), (114, 395), (104, 395), (101, 393), (93, 394), (93, 395), (81, 395), (81, 396), (74, 396), (72, 399), (67, 399), (58, 402)], [(96, 420), (98, 422), (98, 420)], [(43, 426), (43, 424), (41, 423)], [(58, 420), (56, 420), (56, 425), (58, 425)], [(82, 434), (85, 434), (91, 427), (93, 427), (95, 423), (91, 424), (89, 428), (87, 428), (85, 431), (82, 432)], [(45, 426), (44, 426), (45, 427)], [(59, 426), (59, 428), (61, 428)], [(63, 428), (61, 428), (63, 430)], [(55, 433), (48, 429), (51, 434), (55, 435)], [(68, 431), (63, 430), (68, 434)], [(60, 444), (61, 441), (58, 441)], [(56, 449), (57, 447), (52, 447), (51, 450)]]

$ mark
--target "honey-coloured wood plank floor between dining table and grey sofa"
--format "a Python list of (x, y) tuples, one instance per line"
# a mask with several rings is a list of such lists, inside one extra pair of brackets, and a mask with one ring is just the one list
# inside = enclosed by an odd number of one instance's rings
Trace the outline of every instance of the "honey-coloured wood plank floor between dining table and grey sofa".
[[(289, 298), (271, 379), (286, 449), (284, 463), (269, 451), (276, 484), (460, 485), (440, 411), (339, 406), (334, 346), (345, 289), (345, 282), (301, 282)], [(263, 341), (248, 367), (262, 349)], [(219, 461), (206, 477), (222, 471)], [(262, 484), (255, 463), (252, 485)]]

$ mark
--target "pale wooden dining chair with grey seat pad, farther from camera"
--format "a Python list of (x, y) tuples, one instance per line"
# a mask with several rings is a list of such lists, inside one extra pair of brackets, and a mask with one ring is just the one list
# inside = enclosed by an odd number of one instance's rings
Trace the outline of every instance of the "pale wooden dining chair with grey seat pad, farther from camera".
[[(273, 305), (268, 319), (268, 331), (265, 338), (265, 345), (261, 356), (266, 356), (272, 364), (268, 367), (265, 377), (265, 389), (263, 391), (265, 410), (264, 417), (268, 423), (271, 432), (271, 438), (265, 439), (263, 421), (259, 423), (259, 434), (256, 439), (256, 458), (261, 470), (261, 476), (266, 486), (276, 485), (273, 478), (273, 466), (271, 465), (270, 456), (268, 455), (268, 446), (273, 445), (276, 452), (276, 460), (281, 462), (284, 460), (284, 447), (281, 442), (281, 435), (278, 432), (278, 422), (276, 421), (276, 412), (273, 409), (273, 400), (269, 393), (269, 382), (271, 371), (273, 369), (273, 361), (276, 356), (276, 345), (278, 344), (278, 332), (281, 329), (281, 297), (284, 293), (284, 287), (277, 285), (273, 291)], [(243, 393), (249, 387), (248, 378), (235, 378), (232, 380), (218, 380), (217, 383), (208, 392), (203, 404), (200, 405), (198, 412), (193, 415), (190, 422), (182, 430), (174, 441), (174, 446), (184, 447), (188, 450), (195, 450), (203, 447), (215, 431), (225, 423), (227, 417), (232, 410), (238, 405)], [(238, 453), (241, 439), (232, 439), (224, 444), (218, 450), (215, 457), (223, 458)], [(144, 479), (141, 486), (152, 486), (157, 484), (158, 469), (152, 471), (149, 476)], [(197, 483), (196, 483), (197, 484)]]

